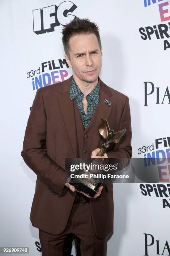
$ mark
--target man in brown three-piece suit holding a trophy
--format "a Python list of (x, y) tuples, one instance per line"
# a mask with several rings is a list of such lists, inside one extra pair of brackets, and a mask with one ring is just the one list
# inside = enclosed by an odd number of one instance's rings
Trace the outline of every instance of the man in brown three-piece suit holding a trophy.
[(103, 184), (94, 198), (75, 191), (66, 182), (65, 159), (101, 158), (101, 117), (114, 131), (127, 128), (103, 157), (131, 158), (129, 100), (99, 78), (102, 46), (95, 23), (75, 18), (63, 28), (62, 42), (73, 75), (37, 90), (21, 152), (37, 174), (30, 220), (39, 228), (42, 256), (70, 255), (73, 239), (77, 255), (104, 256), (113, 230), (113, 186)]

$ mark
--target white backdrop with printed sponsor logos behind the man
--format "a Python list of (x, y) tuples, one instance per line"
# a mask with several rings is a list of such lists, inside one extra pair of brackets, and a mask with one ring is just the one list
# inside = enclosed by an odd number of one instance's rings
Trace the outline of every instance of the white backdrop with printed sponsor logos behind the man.
[[(144, 7), (144, 3), (150, 5)], [(161, 3), (165, 3), (165, 6), (158, 6)], [(77, 8), (64, 17), (63, 11), (70, 9), (73, 4)], [(164, 19), (170, 16), (170, 5), (166, 0), (1, 0), (0, 246), (27, 246), (31, 256), (40, 255), (38, 229), (32, 227), (29, 220), (36, 175), (26, 166), (20, 152), (30, 107), (36, 93), (36, 89), (33, 90), (32, 78), (35, 81), (35, 77), (42, 78), (42, 74), (47, 74), (47, 79), (49, 75), (51, 77), (52, 71), (58, 71), (59, 73), (55, 73), (58, 74), (57, 82), (61, 81), (62, 70), (62, 74), (66, 75), (63, 79), (72, 74), (71, 69), (64, 64), (63, 68), (51, 71), (47, 66), (44, 73), (35, 73), (27, 78), (31, 70), (35, 71), (39, 67), (41, 70), (42, 63), (52, 63), (53, 60), (55, 66), (59, 66), (58, 60), (64, 59), (61, 41), (63, 26), (59, 23), (54, 27), (54, 31), (40, 31), (40, 9), (44, 14), (44, 29), (47, 29), (49, 24), (55, 21), (55, 16), (50, 17), (54, 5), (60, 6), (56, 17), (62, 25), (74, 18), (74, 15), (90, 18), (98, 24), (103, 49), (100, 78), (110, 87), (129, 97), (133, 157), (144, 157), (145, 148), (143, 153), (138, 154), (139, 148), (143, 146), (153, 144), (153, 151), (161, 149), (164, 152), (170, 148), (163, 140), (160, 140), (162, 143), (159, 144), (159, 148), (155, 148), (156, 139), (167, 139), (170, 136), (170, 99), (167, 89), (170, 88), (170, 48), (164, 49), (164, 40), (168, 38), (164, 35), (164, 38), (157, 39), (153, 33), (151, 40), (143, 40), (139, 32), (141, 27), (150, 26), (148, 31), (152, 31), (153, 26), (157, 26), (155, 29), (158, 28), (158, 24), (168, 26), (170, 17), (162, 21), (159, 12), (159, 8), (162, 8), (162, 12), (166, 12), (167, 9), (167, 13), (163, 14)], [(50, 9), (47, 8), (49, 6)], [(34, 12), (34, 19), (33, 10), (37, 10)], [(167, 33), (170, 35), (170, 29)], [(144, 82), (152, 82), (155, 86), (154, 92), (148, 95), (148, 106), (144, 106)], [(156, 87), (160, 88), (160, 104), (156, 104)], [(165, 91), (167, 96), (163, 102)], [(148, 83), (148, 93), (150, 92), (151, 84)], [(152, 151), (148, 148), (147, 153), (152, 154)], [(163, 182), (168, 174), (168, 166), (165, 170)], [(166, 183), (164, 185), (167, 187)], [(108, 256), (145, 255), (144, 233), (150, 234), (147, 236), (148, 244), (154, 239), (153, 245), (148, 246), (148, 255), (170, 255), (170, 207), (163, 208), (163, 198), (170, 203), (170, 197), (156, 197), (154, 193), (151, 193), (151, 196), (144, 196), (141, 192), (140, 184), (114, 184), (114, 234), (108, 241)], [(156, 240), (159, 241), (157, 246)], [(74, 246), (72, 255), (75, 255)]]

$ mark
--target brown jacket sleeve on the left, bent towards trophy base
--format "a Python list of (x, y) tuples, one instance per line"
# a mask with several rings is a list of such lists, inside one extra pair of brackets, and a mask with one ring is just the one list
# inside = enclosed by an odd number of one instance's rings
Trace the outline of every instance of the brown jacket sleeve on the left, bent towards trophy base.
[(47, 155), (46, 113), (40, 89), (32, 103), (21, 156), (37, 177), (59, 197), (65, 194), (66, 172)]

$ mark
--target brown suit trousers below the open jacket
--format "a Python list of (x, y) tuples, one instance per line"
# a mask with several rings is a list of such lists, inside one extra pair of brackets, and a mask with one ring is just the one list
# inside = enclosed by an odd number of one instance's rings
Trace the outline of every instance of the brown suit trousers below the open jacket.
[(107, 237), (99, 239), (95, 236), (90, 204), (88, 199), (82, 200), (82, 197), (77, 193), (67, 226), (60, 235), (39, 229), (42, 256), (70, 256), (73, 240), (77, 256), (106, 256)]

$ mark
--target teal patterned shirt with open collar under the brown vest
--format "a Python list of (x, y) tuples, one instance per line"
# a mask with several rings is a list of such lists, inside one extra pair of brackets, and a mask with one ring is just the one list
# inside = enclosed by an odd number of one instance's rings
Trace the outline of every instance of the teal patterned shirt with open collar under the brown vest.
[(95, 86), (95, 88), (93, 88), (93, 90), (88, 95), (86, 95), (86, 100), (87, 100), (87, 115), (86, 115), (84, 106), (82, 103), (84, 95), (79, 89), (79, 87), (77, 86), (74, 78), (72, 77), (71, 86), (70, 86), (70, 99), (73, 100), (75, 98), (75, 100), (77, 101), (77, 107), (80, 111), (82, 123), (85, 129), (90, 123), (92, 115), (95, 113), (95, 109), (99, 102), (99, 95), (100, 95), (100, 78), (98, 78), (98, 83)]

